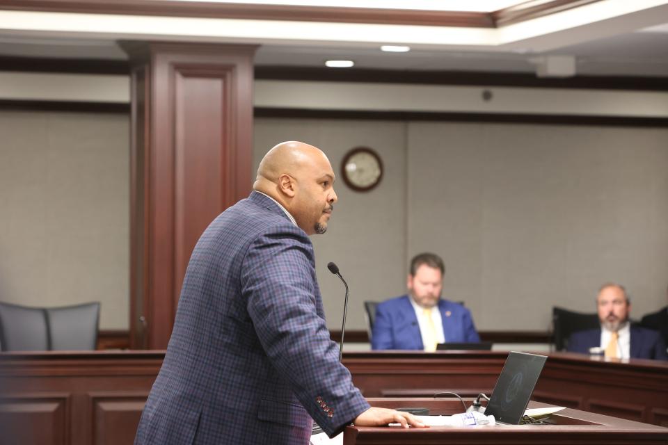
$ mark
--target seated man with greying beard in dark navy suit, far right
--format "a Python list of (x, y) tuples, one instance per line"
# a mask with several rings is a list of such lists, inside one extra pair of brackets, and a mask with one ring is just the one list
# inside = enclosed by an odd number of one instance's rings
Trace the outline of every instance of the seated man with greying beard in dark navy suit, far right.
[(601, 329), (575, 332), (568, 342), (573, 353), (588, 354), (602, 348), (605, 357), (666, 360), (666, 345), (658, 332), (630, 325), (631, 305), (626, 289), (619, 284), (604, 284), (596, 297)]

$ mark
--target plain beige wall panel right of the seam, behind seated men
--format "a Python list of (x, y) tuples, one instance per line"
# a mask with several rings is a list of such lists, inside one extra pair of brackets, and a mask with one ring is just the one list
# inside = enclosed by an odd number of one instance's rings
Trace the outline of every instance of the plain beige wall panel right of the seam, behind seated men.
[(409, 254), (443, 255), (479, 327), (594, 312), (607, 281), (632, 315), (666, 304), (668, 130), (412, 123), (408, 159)]

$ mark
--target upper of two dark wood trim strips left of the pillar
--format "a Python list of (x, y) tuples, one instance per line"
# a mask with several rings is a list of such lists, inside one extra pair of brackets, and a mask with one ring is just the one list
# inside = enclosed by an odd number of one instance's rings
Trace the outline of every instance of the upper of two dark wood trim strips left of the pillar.
[(94, 58), (0, 57), (0, 70), (26, 72), (65, 72), (74, 74), (122, 74), (129, 76), (127, 60)]

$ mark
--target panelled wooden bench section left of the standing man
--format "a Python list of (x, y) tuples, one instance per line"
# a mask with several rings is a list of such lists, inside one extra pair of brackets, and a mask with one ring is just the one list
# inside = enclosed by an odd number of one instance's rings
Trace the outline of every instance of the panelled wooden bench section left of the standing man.
[(164, 351), (0, 353), (0, 443), (132, 444)]

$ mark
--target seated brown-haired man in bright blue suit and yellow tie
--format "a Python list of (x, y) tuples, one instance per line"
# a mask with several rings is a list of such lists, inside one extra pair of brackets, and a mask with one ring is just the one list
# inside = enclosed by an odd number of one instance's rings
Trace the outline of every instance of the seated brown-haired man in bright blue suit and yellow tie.
[(478, 342), (480, 338), (466, 307), (440, 298), (443, 260), (423, 253), (411, 260), (408, 295), (376, 307), (373, 349), (436, 350), (437, 343)]

